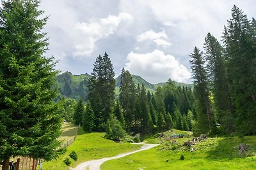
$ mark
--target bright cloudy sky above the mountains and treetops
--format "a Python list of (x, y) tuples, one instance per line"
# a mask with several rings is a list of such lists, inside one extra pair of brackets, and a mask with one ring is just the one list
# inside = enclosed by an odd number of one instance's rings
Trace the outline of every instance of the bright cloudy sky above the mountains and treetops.
[(150, 83), (189, 83), (189, 54), (207, 32), (221, 39), (234, 4), (256, 17), (255, 0), (42, 0), (50, 16), (46, 55), (62, 71), (90, 74), (107, 52), (116, 76), (125, 67)]

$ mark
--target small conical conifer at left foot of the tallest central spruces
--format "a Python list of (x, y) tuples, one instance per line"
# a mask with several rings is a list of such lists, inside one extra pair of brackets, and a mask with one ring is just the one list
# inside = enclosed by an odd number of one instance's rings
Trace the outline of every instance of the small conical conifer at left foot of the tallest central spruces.
[(90, 101), (86, 104), (86, 109), (83, 112), (83, 130), (84, 132), (92, 132), (94, 124), (94, 113)]

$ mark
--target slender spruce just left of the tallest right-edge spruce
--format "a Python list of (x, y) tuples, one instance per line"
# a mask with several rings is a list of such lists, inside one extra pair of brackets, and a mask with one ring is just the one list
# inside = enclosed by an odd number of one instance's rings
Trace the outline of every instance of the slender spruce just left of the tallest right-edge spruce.
[(214, 93), (214, 106), (218, 122), (225, 127), (228, 132), (234, 131), (230, 126), (234, 125), (232, 115), (232, 101), (230, 99), (230, 90), (225, 70), (225, 60), (223, 57), (223, 48), (214, 36), (207, 34), (204, 43), (205, 59), (207, 62), (207, 71)]

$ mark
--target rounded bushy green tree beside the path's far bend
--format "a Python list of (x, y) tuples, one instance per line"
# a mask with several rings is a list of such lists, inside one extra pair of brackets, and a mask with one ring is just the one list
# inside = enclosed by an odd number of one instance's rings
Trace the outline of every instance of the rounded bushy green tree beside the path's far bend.
[(115, 115), (111, 114), (106, 125), (106, 138), (113, 141), (120, 141), (126, 136), (126, 132), (117, 120)]

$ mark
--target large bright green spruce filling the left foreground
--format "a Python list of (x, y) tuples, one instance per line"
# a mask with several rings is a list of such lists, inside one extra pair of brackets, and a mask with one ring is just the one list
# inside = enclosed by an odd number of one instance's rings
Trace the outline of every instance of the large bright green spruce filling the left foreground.
[(61, 115), (54, 103), (54, 58), (44, 57), (47, 18), (40, 1), (2, 1), (0, 9), (0, 161), (60, 155)]

